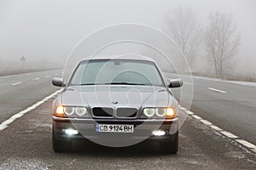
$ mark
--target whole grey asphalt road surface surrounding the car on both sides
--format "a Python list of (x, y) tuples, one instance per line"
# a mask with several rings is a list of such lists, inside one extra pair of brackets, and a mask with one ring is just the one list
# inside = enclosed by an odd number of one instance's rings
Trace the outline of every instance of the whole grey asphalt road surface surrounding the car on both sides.
[[(61, 75), (61, 71), (0, 77), (0, 123), (58, 90), (50, 85), (51, 78), (56, 74)], [(185, 77), (184, 81), (187, 81)], [(183, 89), (189, 90), (189, 86), (189, 83), (185, 83)], [(255, 144), (256, 125), (253, 121), (256, 100), (253, 93), (256, 88), (201, 79), (194, 79), (193, 87), (195, 92), (191, 111)], [(209, 88), (219, 88), (226, 93)], [(178, 92), (175, 90), (177, 97)], [(55, 153), (51, 149), (51, 101), (49, 99), (0, 130), (0, 169), (256, 168), (253, 151), (192, 116), (186, 116), (185, 111), (181, 111), (186, 121), (180, 129), (179, 150), (174, 156), (161, 154), (157, 144), (108, 148), (83, 141), (73, 144), (72, 152)], [(239, 111), (243, 111), (243, 114)]]

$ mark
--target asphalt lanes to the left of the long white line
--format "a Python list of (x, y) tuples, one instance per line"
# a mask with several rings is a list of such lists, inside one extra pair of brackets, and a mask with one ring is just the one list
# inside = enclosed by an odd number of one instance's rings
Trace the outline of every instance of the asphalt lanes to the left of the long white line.
[(52, 94), (52, 77), (61, 71), (40, 71), (0, 77), (0, 122)]

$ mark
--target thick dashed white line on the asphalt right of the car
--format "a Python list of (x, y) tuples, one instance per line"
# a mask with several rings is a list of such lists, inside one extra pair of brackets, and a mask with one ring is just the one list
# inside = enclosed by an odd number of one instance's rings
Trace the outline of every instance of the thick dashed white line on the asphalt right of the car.
[(246, 140), (244, 139), (240, 139), (238, 136), (236, 136), (235, 134), (233, 133), (230, 133), (230, 132), (227, 132), (227, 131), (224, 131), (222, 130), (221, 128), (215, 126), (212, 124), (212, 122), (208, 122), (207, 120), (205, 119), (202, 119), (201, 116), (197, 116), (195, 115), (195, 113), (193, 113), (192, 111), (189, 111), (187, 110), (186, 108), (184, 107), (180, 107), (183, 111), (185, 111), (188, 115), (194, 117), (196, 120), (200, 121), (201, 123), (205, 124), (207, 127), (210, 127), (214, 130), (216, 130), (218, 133), (221, 133), (223, 134), (225, 137), (229, 138), (229, 139), (233, 139), (235, 140), (237, 143), (247, 147), (249, 150), (253, 151), (254, 153), (256, 153), (256, 145), (255, 144), (252, 144), (250, 142), (247, 142)]

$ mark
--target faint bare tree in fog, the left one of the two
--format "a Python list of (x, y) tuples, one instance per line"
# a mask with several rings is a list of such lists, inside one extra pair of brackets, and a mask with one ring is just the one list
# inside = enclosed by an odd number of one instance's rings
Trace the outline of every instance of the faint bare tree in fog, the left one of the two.
[(193, 64), (201, 46), (201, 26), (190, 8), (179, 7), (166, 13), (165, 30), (186, 56), (189, 65)]

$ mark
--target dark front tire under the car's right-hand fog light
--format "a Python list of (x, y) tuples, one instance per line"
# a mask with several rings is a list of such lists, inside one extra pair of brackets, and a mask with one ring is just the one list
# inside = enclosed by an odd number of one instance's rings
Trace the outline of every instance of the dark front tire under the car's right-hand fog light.
[(174, 134), (175, 139), (171, 142), (160, 142), (160, 152), (164, 154), (177, 154), (178, 132)]

